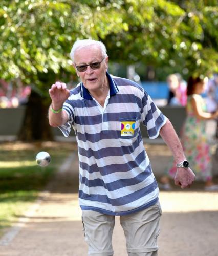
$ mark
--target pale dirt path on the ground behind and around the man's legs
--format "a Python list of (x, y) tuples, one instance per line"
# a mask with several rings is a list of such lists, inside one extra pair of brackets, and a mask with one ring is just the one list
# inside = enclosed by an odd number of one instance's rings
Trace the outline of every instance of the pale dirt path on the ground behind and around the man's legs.
[[(165, 145), (146, 147), (158, 179), (170, 161), (170, 152)], [(87, 255), (77, 196), (78, 157), (73, 149), (38, 200), (0, 238), (1, 256)], [(159, 256), (218, 255), (218, 192), (207, 193), (196, 182), (188, 190), (173, 187), (170, 192), (161, 191), (160, 202)], [(113, 246), (115, 256), (127, 256), (119, 217)]]

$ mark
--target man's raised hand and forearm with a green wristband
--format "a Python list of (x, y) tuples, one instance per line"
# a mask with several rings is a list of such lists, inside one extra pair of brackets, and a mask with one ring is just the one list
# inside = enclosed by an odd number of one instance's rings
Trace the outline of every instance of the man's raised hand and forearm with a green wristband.
[(62, 106), (64, 101), (70, 96), (70, 91), (67, 89), (65, 83), (56, 82), (52, 84), (52, 87), (49, 89), (49, 95), (52, 100), (49, 107), (49, 124), (53, 127), (57, 127), (68, 121), (68, 114), (66, 111), (62, 110)]

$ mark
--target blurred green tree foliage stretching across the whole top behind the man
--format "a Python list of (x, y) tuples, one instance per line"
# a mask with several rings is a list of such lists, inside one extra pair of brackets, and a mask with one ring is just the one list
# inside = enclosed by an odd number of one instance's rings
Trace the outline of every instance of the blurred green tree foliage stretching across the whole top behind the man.
[(212, 0), (2, 0), (0, 76), (39, 90), (74, 80), (69, 53), (84, 38), (104, 41), (114, 61), (218, 72), (217, 24)]

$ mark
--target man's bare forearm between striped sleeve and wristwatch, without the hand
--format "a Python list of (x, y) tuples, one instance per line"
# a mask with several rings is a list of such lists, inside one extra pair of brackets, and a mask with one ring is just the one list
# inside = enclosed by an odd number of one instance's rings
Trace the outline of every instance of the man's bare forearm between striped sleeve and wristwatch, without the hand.
[(170, 148), (173, 157), (177, 163), (186, 159), (179, 137), (173, 128), (171, 122), (167, 119), (166, 124), (161, 128), (160, 135)]

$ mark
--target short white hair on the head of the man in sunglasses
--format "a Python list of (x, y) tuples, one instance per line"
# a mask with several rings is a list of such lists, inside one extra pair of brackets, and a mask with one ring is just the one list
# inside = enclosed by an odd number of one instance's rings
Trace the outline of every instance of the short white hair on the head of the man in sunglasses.
[(106, 54), (107, 50), (106, 50), (106, 47), (103, 44), (103, 42), (92, 40), (92, 39), (84, 39), (84, 40), (77, 40), (74, 42), (74, 45), (73, 45), (73, 47), (71, 49), (71, 53), (70, 53), (70, 57), (71, 57), (72, 61), (74, 62), (74, 55), (75, 55), (76, 50), (81, 49), (83, 47), (91, 46), (91, 45), (95, 45), (100, 48), (101, 53), (103, 55), (102, 57), (107, 56), (107, 54)]

